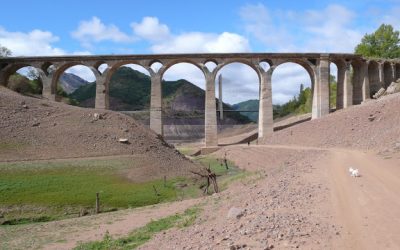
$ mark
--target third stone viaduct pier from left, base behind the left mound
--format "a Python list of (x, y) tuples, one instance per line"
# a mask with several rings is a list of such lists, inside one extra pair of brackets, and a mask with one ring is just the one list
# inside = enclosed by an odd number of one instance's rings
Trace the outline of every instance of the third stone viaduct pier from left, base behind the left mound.
[(163, 135), (162, 123), (162, 75), (157, 72), (151, 75), (150, 128)]

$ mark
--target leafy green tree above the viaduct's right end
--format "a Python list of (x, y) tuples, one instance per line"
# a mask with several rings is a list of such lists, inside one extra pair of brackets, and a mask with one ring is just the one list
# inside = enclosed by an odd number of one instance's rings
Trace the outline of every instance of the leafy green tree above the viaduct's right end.
[(399, 44), (399, 31), (390, 24), (382, 24), (374, 33), (365, 34), (355, 53), (373, 58), (399, 58)]

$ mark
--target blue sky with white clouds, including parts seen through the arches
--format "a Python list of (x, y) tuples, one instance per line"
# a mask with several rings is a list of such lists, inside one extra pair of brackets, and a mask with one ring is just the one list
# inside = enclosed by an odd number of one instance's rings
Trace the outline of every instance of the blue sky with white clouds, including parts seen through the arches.
[[(400, 29), (400, 0), (352, 1), (5, 1), (0, 44), (14, 55), (184, 52), (352, 52), (381, 23)], [(238, 70), (242, 67), (243, 70)], [(280, 68), (282, 67), (282, 68)], [(309, 85), (298, 65), (278, 67), (273, 97), (281, 103)], [(228, 102), (258, 95), (255, 73), (222, 72)], [(246, 73), (247, 71), (249, 73)], [(90, 78), (90, 71), (70, 69)], [(238, 74), (237, 72), (241, 72)], [(334, 72), (334, 68), (332, 69)], [(166, 78), (202, 86), (188, 65)], [(274, 80), (275, 79), (275, 80)], [(240, 90), (240, 91), (238, 91)], [(235, 96), (235, 93), (246, 93)]]

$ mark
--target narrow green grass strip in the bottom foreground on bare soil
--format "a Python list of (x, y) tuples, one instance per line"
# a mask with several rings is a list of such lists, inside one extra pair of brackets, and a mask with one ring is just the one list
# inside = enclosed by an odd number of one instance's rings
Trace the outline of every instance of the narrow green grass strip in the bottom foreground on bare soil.
[(113, 239), (108, 233), (101, 241), (80, 244), (75, 250), (108, 250), (108, 249), (135, 249), (149, 241), (156, 233), (172, 227), (187, 227), (194, 223), (200, 208), (187, 209), (182, 214), (171, 215), (159, 220), (151, 221), (146, 226), (138, 228), (128, 236)]

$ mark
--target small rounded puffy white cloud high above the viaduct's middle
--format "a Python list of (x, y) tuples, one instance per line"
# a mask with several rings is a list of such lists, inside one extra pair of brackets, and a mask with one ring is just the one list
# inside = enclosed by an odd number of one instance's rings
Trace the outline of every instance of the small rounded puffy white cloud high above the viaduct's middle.
[(131, 23), (135, 34), (150, 41), (161, 41), (168, 39), (169, 28), (161, 24), (157, 17), (144, 17), (141, 23)]

